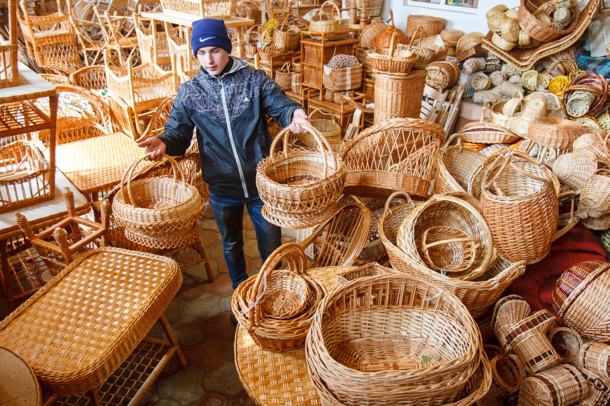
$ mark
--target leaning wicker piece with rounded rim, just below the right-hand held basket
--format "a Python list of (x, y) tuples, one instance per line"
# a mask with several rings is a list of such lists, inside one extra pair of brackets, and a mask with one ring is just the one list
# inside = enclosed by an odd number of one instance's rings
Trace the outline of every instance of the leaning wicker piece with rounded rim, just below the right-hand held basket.
[(370, 210), (362, 203), (349, 203), (300, 243), (312, 250), (308, 268), (349, 267), (354, 264), (367, 242), (371, 222)]

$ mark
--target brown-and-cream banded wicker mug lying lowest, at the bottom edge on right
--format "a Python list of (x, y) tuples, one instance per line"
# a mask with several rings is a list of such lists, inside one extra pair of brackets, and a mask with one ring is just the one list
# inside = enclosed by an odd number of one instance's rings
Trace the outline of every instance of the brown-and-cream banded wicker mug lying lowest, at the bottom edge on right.
[(586, 394), (583, 374), (575, 366), (564, 364), (523, 379), (519, 385), (519, 406), (567, 406)]

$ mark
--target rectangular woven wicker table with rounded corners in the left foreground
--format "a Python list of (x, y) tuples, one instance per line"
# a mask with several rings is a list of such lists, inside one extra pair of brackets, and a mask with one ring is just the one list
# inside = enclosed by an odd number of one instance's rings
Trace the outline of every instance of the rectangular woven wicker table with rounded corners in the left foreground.
[[(134, 372), (133, 384), (121, 396), (137, 404), (171, 355), (186, 365), (163, 315), (181, 283), (171, 259), (119, 248), (91, 250), (0, 323), (0, 346), (29, 364), (44, 394), (87, 392), (93, 405), (109, 403), (98, 388), (128, 360), (120, 370)], [(145, 338), (157, 320), (168, 341)], [(130, 357), (134, 349), (138, 354)], [(143, 360), (137, 361), (140, 355)], [(141, 374), (142, 367), (148, 373)], [(134, 394), (131, 387), (140, 388)]]

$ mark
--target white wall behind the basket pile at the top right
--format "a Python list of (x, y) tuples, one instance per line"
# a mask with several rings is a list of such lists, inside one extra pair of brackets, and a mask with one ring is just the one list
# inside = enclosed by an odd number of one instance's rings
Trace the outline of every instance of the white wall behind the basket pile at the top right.
[(468, 14), (428, 9), (425, 7), (414, 7), (412, 5), (404, 5), (403, 2), (403, 0), (385, 0), (381, 12), (384, 19), (388, 19), (390, 18), (390, 9), (392, 9), (394, 24), (403, 31), (407, 26), (407, 17), (409, 15), (423, 14), (446, 19), (447, 24), (445, 24), (445, 28), (454, 28), (464, 31), (464, 33), (478, 31), (484, 34), (489, 31), (489, 29), (487, 29), (487, 19), (485, 16), (487, 10), (498, 4), (504, 4), (509, 8), (517, 7), (517, 5), (519, 5), (519, 0), (479, 0), (479, 7), (476, 9), (477, 13)]

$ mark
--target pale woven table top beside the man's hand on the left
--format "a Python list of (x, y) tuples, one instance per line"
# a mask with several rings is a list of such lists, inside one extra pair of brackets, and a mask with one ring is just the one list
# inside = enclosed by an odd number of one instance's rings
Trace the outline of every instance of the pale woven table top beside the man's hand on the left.
[(91, 193), (118, 184), (124, 170), (142, 152), (133, 139), (113, 133), (57, 145), (56, 160), (79, 191)]

